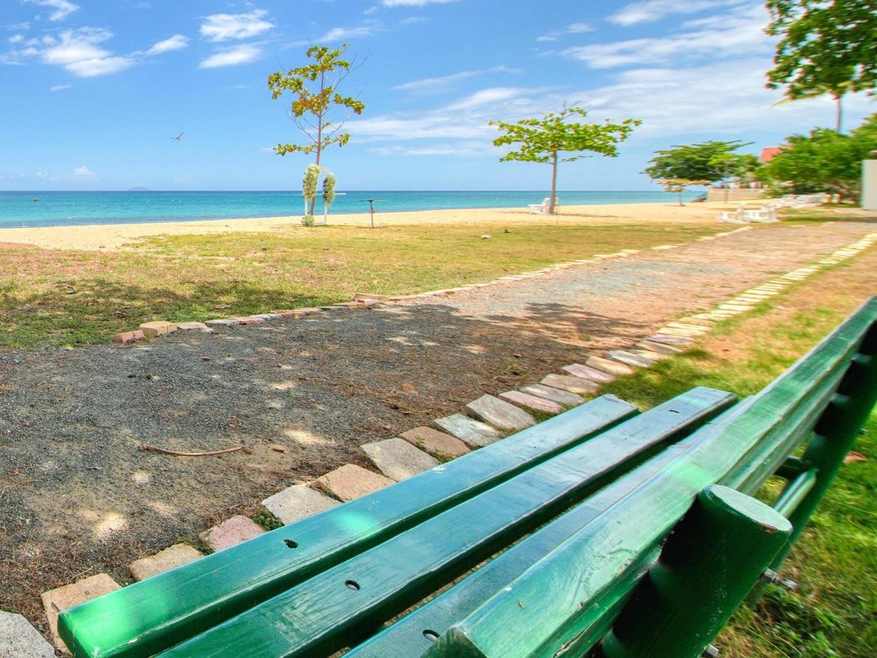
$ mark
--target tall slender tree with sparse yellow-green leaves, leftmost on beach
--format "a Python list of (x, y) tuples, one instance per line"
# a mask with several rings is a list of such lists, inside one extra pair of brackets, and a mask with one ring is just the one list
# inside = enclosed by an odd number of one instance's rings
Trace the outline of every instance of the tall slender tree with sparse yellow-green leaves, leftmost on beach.
[[(277, 71), (268, 75), (268, 89), (271, 89), (272, 98), (276, 100), (287, 91), (292, 94), (289, 118), (307, 136), (305, 144), (278, 144), (275, 153), (316, 153), (318, 166), (325, 148), (332, 144), (344, 147), (350, 140), (349, 132), (340, 131), (351, 113), (362, 114), (366, 105), (358, 97), (342, 96), (338, 91), (347, 75), (359, 68), (355, 58), (342, 59), (349, 49), (349, 44), (336, 50), (328, 46), (310, 46), (306, 54), (313, 63), (291, 68), (285, 73)], [(339, 110), (345, 111), (346, 116), (334, 119), (335, 111)], [(305, 214), (312, 215), (313, 212), (311, 204), (310, 212)]]

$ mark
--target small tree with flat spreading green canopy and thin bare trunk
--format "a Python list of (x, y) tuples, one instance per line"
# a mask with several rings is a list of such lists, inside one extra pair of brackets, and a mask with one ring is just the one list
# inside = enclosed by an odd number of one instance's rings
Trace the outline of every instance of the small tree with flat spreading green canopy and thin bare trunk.
[[(617, 157), (618, 144), (642, 123), (632, 118), (624, 119), (620, 124), (613, 124), (609, 119), (601, 124), (580, 124), (568, 120), (587, 116), (587, 110), (572, 104), (564, 105), (560, 111), (549, 112), (543, 118), (524, 118), (514, 124), (490, 122), (490, 125), (496, 125), (500, 132), (505, 133), (494, 139), (495, 147), (520, 145), (517, 151), (503, 155), (501, 162), (542, 162), (552, 166), (551, 202), (548, 208), (551, 214), (556, 210), (558, 163), (593, 157), (590, 154)], [(590, 154), (582, 154), (585, 151)], [(576, 155), (562, 157), (564, 153)]]

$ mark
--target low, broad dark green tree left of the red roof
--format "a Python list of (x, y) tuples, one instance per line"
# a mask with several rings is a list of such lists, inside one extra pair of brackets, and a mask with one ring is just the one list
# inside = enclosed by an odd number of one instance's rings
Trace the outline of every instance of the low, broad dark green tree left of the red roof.
[(698, 185), (739, 177), (754, 167), (752, 155), (736, 153), (739, 148), (750, 144), (752, 142), (743, 143), (735, 139), (676, 145), (655, 151), (655, 156), (649, 161), (651, 166), (645, 168), (643, 173), (652, 181), (685, 179), (697, 181), (690, 184)]

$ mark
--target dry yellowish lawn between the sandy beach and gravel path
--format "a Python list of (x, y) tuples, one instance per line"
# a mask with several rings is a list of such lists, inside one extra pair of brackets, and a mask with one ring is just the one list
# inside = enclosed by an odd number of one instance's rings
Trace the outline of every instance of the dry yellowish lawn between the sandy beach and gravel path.
[[(0, 346), (107, 340), (206, 320), (411, 294), (559, 261), (694, 240), (724, 225), (351, 226), (159, 237), (121, 253), (0, 245)], [(492, 235), (481, 240), (481, 234)]]

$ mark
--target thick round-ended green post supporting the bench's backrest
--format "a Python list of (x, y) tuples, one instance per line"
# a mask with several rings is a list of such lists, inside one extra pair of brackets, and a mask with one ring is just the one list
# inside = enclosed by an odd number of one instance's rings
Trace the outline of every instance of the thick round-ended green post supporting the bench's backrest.
[(711, 485), (602, 641), (605, 658), (699, 658), (792, 533), (755, 498)]

